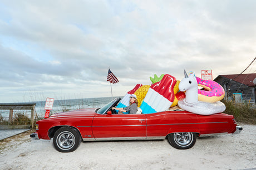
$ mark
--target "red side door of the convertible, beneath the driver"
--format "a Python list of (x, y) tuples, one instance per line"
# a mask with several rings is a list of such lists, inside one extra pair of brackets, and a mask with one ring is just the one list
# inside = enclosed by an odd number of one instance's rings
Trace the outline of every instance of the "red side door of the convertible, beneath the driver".
[(97, 114), (92, 121), (96, 140), (126, 140), (146, 138), (146, 115)]

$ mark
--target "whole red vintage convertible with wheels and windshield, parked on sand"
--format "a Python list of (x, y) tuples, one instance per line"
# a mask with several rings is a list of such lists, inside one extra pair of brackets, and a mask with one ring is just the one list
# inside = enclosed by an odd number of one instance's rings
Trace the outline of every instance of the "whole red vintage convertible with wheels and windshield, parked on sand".
[(154, 114), (116, 114), (111, 108), (119, 99), (99, 109), (81, 109), (54, 114), (37, 121), (31, 137), (50, 140), (60, 152), (72, 152), (81, 141), (159, 140), (167, 138), (177, 149), (194, 146), (196, 137), (212, 133), (239, 133), (232, 115), (197, 115), (188, 111), (162, 111)]

